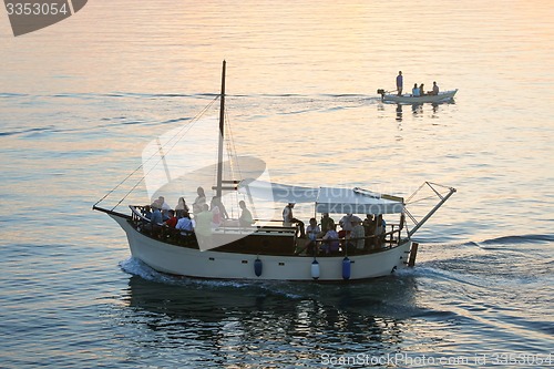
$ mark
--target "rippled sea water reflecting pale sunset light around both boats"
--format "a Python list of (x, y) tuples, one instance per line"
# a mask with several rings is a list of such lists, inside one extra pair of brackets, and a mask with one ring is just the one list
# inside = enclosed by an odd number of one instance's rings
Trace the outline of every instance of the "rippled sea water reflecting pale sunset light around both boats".
[[(95, 0), (20, 37), (0, 17), (0, 367), (554, 367), (553, 48), (541, 0)], [(214, 281), (131, 257), (92, 206), (151, 201), (125, 180), (223, 60), (234, 146), (275, 182), (456, 188), (413, 268)], [(382, 103), (399, 71), (459, 91)]]

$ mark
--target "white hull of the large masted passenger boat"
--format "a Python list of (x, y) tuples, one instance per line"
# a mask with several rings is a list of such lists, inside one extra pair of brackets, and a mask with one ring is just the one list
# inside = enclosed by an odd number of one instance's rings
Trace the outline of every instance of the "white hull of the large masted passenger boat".
[[(133, 257), (155, 270), (197, 278), (214, 279), (263, 279), (263, 280), (314, 280), (312, 257), (260, 255), (261, 275), (255, 274), (253, 254), (199, 252), (147, 237), (127, 222), (126, 218), (110, 214), (125, 230)], [(350, 279), (368, 279), (390, 275), (406, 267), (411, 240), (397, 247), (368, 255), (350, 256)], [(343, 256), (318, 257), (319, 278), (322, 281), (340, 281)]]

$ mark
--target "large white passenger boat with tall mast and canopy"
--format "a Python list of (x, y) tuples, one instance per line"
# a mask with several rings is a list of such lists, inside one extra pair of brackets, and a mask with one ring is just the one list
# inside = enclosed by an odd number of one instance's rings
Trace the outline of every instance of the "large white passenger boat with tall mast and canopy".
[[(146, 206), (131, 204), (129, 205), (130, 212), (116, 211), (115, 208), (126, 197), (120, 199), (114, 207), (101, 206), (100, 203), (114, 193), (112, 191), (94, 204), (93, 209), (107, 214), (121, 226), (126, 234), (132, 256), (161, 273), (208, 279), (346, 281), (382, 277), (394, 270), (413, 266), (418, 249), (417, 243), (412, 240), (413, 234), (455, 193), (455, 188), (425, 182), (422, 187), (431, 188), (431, 192), (438, 196), (438, 203), (418, 221), (408, 211), (409, 201), (406, 202), (403, 197), (360, 187), (301, 187), (266, 181), (267, 171), (264, 165), (260, 165), (259, 160), (239, 158), (242, 172), (246, 172), (249, 177), (224, 180), (224, 167), (230, 162), (237, 162), (237, 160), (226, 162), (223, 160), (224, 132), (226, 132), (225, 68), (224, 61), (222, 92), (215, 99), (220, 100), (219, 121), (216, 122), (218, 127), (215, 130), (217, 139), (212, 141), (215, 146), (213, 150), (208, 147), (207, 137), (191, 140), (186, 145), (189, 154), (202, 150), (212, 153), (217, 148), (216, 165), (206, 165), (205, 172), (213, 175), (212, 189), (220, 199), (219, 204), (226, 203), (230, 206), (234, 196), (237, 198), (242, 196), (250, 204), (249, 208), (256, 211), (266, 206), (255, 202), (255, 199), (261, 199), (263, 204), (269, 202), (274, 206), (265, 214), (275, 215), (275, 211), (283, 208), (283, 204), (301, 203), (302, 206), (314, 206), (315, 217), (318, 214), (332, 216), (348, 214), (349, 217), (356, 217), (358, 214), (368, 215), (368, 218), (375, 219), (375, 223), (365, 224), (370, 232), (365, 228), (361, 237), (346, 236), (334, 239), (335, 247), (332, 248), (326, 248), (328, 240), (319, 235), (315, 239), (315, 247), (308, 249), (306, 248), (307, 238), (299, 236), (301, 230), (298, 223), (289, 224), (284, 223), (283, 219), (264, 219), (255, 216), (253, 223), (246, 225), (236, 219), (212, 224), (207, 234), (206, 228), (203, 228), (201, 234), (201, 228), (196, 224), (195, 233), (183, 234), (163, 224), (152, 224), (144, 215)], [(184, 134), (192, 134), (193, 131), (188, 126), (191, 124), (186, 124), (187, 130)], [(202, 127), (202, 132), (205, 133), (205, 126)], [(182, 137), (167, 142), (175, 146), (179, 140)], [(191, 146), (195, 141), (202, 143), (198, 148)], [(156, 145), (158, 147), (154, 148), (154, 152), (158, 148), (162, 152), (163, 144), (160, 140)], [(154, 161), (164, 166), (161, 170), (162, 173), (168, 173), (172, 170), (172, 163), (167, 158), (167, 151), (163, 152), (164, 154)], [(143, 157), (152, 158), (154, 154), (144, 155), (143, 152)], [(206, 156), (213, 157), (213, 155)], [(202, 158), (187, 156), (187, 160), (178, 162), (179, 165), (194, 165), (199, 161)], [(153, 166), (143, 166), (146, 177), (152, 173)], [(193, 181), (192, 176), (198, 172), (199, 170), (193, 168), (181, 177), (185, 182), (188, 181), (187, 186), (189, 186)], [(235, 172), (230, 171), (225, 175), (233, 173)], [(158, 194), (166, 193), (168, 185), (177, 178), (176, 175), (167, 176), (165, 184), (157, 181), (156, 188), (158, 189), (151, 193), (148, 198), (156, 198)], [(132, 188), (135, 187), (136, 185)], [(179, 186), (179, 188), (183, 187)], [(410, 198), (412, 197), (413, 195)], [(245, 203), (243, 202), (236, 201), (240, 203), (244, 211)], [(259, 215), (259, 212), (255, 212), (256, 214)], [(386, 224), (381, 221), (383, 217), (387, 217)], [(393, 217), (397, 221), (392, 221)], [(196, 218), (201, 222), (201, 216)], [(414, 225), (411, 229), (409, 229), (407, 218), (410, 218)], [(357, 224), (359, 221), (360, 218), (353, 223)], [(358, 230), (360, 230), (359, 226)]]

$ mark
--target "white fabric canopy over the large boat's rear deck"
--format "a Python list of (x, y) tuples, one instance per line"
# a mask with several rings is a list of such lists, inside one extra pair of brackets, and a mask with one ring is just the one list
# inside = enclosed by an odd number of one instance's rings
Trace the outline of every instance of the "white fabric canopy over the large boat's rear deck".
[(258, 180), (243, 180), (238, 192), (276, 203), (315, 203), (317, 213), (394, 214), (403, 213), (402, 197), (341, 187), (302, 187)]

